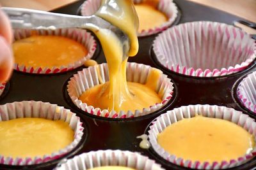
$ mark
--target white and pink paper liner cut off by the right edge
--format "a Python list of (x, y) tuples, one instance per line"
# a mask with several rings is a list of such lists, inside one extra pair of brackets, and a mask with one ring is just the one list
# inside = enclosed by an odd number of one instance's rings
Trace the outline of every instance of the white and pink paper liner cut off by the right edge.
[(239, 83), (237, 97), (248, 110), (256, 113), (256, 71), (248, 74)]

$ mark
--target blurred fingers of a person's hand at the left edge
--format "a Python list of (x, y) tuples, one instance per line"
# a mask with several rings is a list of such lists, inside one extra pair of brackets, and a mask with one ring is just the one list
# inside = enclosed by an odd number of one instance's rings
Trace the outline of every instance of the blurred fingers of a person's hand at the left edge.
[[(1, 7), (1, 6), (0, 6)], [(8, 17), (0, 9), (0, 82), (6, 82), (13, 70), (12, 28)]]

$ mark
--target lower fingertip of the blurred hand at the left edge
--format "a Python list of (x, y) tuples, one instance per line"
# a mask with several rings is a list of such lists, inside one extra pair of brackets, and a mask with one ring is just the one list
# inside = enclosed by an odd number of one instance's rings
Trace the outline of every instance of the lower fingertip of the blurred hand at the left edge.
[(13, 69), (13, 53), (7, 41), (0, 36), (0, 82), (10, 78)]

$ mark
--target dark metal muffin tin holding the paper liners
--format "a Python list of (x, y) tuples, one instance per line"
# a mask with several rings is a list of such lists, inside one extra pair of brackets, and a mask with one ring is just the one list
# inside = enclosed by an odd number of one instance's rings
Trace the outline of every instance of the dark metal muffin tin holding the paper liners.
[[(176, 0), (174, 2), (179, 8), (179, 17), (177, 17), (174, 24), (196, 20), (209, 20), (232, 24), (234, 20), (241, 20), (241, 18), (235, 17), (234, 15), (186, 0)], [(82, 3), (83, 1), (77, 1), (76, 3), (69, 4), (68, 6), (54, 11), (58, 13), (77, 14), (79, 13), (79, 6), (81, 6)], [(140, 152), (142, 155), (156, 160), (156, 162), (161, 164), (165, 169), (188, 169), (167, 162), (159, 157), (152, 148), (148, 150), (141, 149), (139, 147), (141, 139), (137, 139), (136, 136), (147, 133), (150, 122), (161, 113), (166, 113), (166, 110), (172, 110), (173, 108), (187, 106), (189, 104), (215, 104), (218, 106), (226, 106), (238, 111), (243, 111), (243, 113), (256, 119), (256, 115), (252, 113), (252, 111), (246, 110), (236, 97), (237, 84), (241, 81), (243, 76), (255, 71), (255, 60), (243, 71), (227, 76), (195, 78), (181, 75), (168, 71), (168, 69), (165, 69), (157, 62), (152, 50), (152, 43), (156, 36), (157, 35), (152, 35), (139, 38), (140, 51), (136, 57), (131, 57), (129, 62), (137, 62), (157, 67), (161, 69), (164, 74), (167, 74), (168, 78), (172, 79), (174, 86), (173, 97), (170, 102), (159, 111), (138, 118), (114, 120), (111, 118), (97, 117), (79, 110), (68, 96), (67, 82), (73, 74), (76, 74), (77, 71), (81, 71), (84, 66), (66, 73), (48, 75), (14, 71), (11, 80), (6, 84), (3, 95), (0, 97), (0, 104), (12, 103), (14, 101), (43, 101), (58, 104), (58, 106), (64, 106), (76, 113), (76, 115), (81, 118), (86, 133), (78, 146), (61, 159), (74, 157), (74, 155), (93, 150), (129, 150), (131, 152)], [(99, 41), (97, 42), (97, 50), (92, 59), (97, 60), (98, 63), (106, 62)], [(53, 169), (61, 159), (35, 166), (6, 166), (1, 164), (0, 169)], [(253, 158), (241, 166), (230, 169), (255, 169), (255, 167), (256, 158)]]

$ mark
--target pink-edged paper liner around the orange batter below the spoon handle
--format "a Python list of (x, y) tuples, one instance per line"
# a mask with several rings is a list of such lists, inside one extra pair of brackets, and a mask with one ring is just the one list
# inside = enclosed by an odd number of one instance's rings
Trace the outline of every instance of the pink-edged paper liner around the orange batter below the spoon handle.
[[(41, 29), (41, 30), (29, 30), (29, 29), (15, 29), (14, 30), (14, 40), (28, 38), (32, 34), (38, 34), (42, 36), (63, 36), (66, 38), (73, 39), (78, 43), (81, 43), (87, 50), (88, 53), (83, 58), (77, 60), (76, 62), (70, 63), (67, 66), (56, 66), (56, 67), (33, 67), (33, 66), (24, 66), (19, 63), (15, 63), (14, 69), (17, 71), (22, 71), (26, 73), (35, 73), (35, 74), (51, 74), (51, 73), (61, 73), (65, 71), (70, 71), (79, 66), (83, 66), (84, 62), (88, 59), (91, 59), (97, 44), (90, 32), (86, 32), (84, 29)], [(35, 54), (36, 55), (36, 54)], [(54, 57), (54, 56), (52, 56)]]

